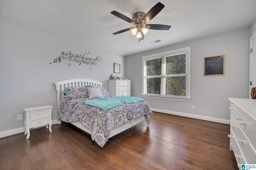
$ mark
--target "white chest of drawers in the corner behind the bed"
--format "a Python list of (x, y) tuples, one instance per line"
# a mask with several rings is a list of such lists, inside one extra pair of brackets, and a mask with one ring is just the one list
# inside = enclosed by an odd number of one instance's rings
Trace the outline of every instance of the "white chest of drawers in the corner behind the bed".
[(131, 80), (108, 80), (108, 92), (113, 96), (131, 96)]

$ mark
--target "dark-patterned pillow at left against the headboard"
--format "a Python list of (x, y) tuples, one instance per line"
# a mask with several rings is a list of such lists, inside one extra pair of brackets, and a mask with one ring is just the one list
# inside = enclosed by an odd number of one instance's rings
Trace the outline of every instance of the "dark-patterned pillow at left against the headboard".
[(88, 98), (87, 88), (84, 87), (68, 87), (66, 88), (65, 98)]

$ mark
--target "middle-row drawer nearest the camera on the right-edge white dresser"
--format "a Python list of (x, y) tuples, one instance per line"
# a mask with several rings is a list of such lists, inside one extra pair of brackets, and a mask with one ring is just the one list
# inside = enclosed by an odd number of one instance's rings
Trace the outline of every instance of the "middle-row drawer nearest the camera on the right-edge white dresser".
[(245, 159), (249, 164), (253, 164), (256, 162), (256, 152), (254, 151), (254, 147), (250, 145), (250, 142), (244, 135), (244, 133), (238, 128), (238, 136), (237, 136), (238, 145), (241, 148)]

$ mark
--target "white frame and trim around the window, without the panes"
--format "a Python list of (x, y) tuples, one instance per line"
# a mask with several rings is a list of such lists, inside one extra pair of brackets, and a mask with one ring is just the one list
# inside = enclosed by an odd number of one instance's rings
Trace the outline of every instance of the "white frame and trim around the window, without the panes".
[[(157, 94), (144, 94), (144, 61), (150, 60), (150, 59), (157, 59), (162, 56), (173, 56), (173, 55), (179, 55), (181, 53), (187, 53), (187, 96), (167, 96), (167, 95), (157, 95)], [(160, 98), (160, 99), (169, 99), (169, 100), (185, 100), (190, 101), (190, 47), (184, 47), (180, 49), (174, 49), (171, 51), (165, 51), (162, 53), (156, 53), (152, 55), (146, 55), (142, 56), (142, 96), (146, 98)]]

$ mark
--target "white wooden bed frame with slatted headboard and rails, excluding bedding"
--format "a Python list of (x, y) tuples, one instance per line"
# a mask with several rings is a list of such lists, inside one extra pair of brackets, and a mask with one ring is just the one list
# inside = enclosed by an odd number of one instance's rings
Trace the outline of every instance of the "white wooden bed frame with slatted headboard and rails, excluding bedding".
[[(56, 90), (57, 90), (57, 109), (60, 104), (60, 101), (64, 98), (63, 90), (65, 90), (67, 87), (80, 87), (80, 86), (98, 86), (102, 87), (102, 82), (98, 82), (95, 80), (89, 80), (89, 79), (70, 79), (70, 80), (63, 80), (59, 82), (55, 82)], [(58, 110), (57, 110), (58, 111)], [(151, 110), (150, 110), (151, 111)], [(60, 124), (62, 121), (58, 120), (58, 124)], [(135, 119), (133, 121), (130, 121), (128, 123), (125, 123), (121, 126), (115, 127), (111, 130), (111, 134), (108, 138), (113, 137), (114, 135), (117, 135), (118, 133), (121, 133), (125, 131), (126, 129), (129, 129), (130, 127), (133, 127), (134, 125), (143, 122), (146, 127), (148, 127), (148, 123), (146, 121), (146, 117), (142, 116), (138, 119)], [(80, 121), (72, 121), (70, 122), (75, 127), (78, 127), (82, 131), (85, 131), (86, 133), (91, 134), (91, 131), (86, 128)]]

